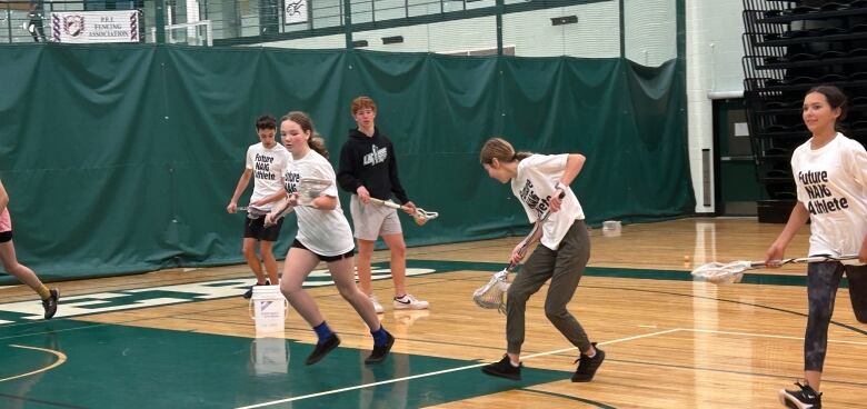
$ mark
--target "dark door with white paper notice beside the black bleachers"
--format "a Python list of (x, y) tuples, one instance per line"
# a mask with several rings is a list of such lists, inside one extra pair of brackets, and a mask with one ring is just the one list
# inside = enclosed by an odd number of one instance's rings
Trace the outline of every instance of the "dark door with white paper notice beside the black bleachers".
[(714, 101), (717, 215), (756, 216), (756, 201), (768, 194), (756, 178), (756, 161), (744, 99)]

